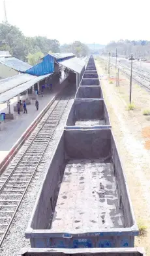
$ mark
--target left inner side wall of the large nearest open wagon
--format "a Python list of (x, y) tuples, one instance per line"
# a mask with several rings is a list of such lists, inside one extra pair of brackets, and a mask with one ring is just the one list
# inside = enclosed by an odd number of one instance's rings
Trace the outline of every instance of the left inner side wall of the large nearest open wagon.
[(63, 178), (64, 161), (64, 135), (62, 135), (44, 178), (43, 189), (40, 191), (34, 219), (31, 221), (31, 228), (33, 229), (47, 228), (50, 223), (50, 217), (57, 201), (59, 184)]

